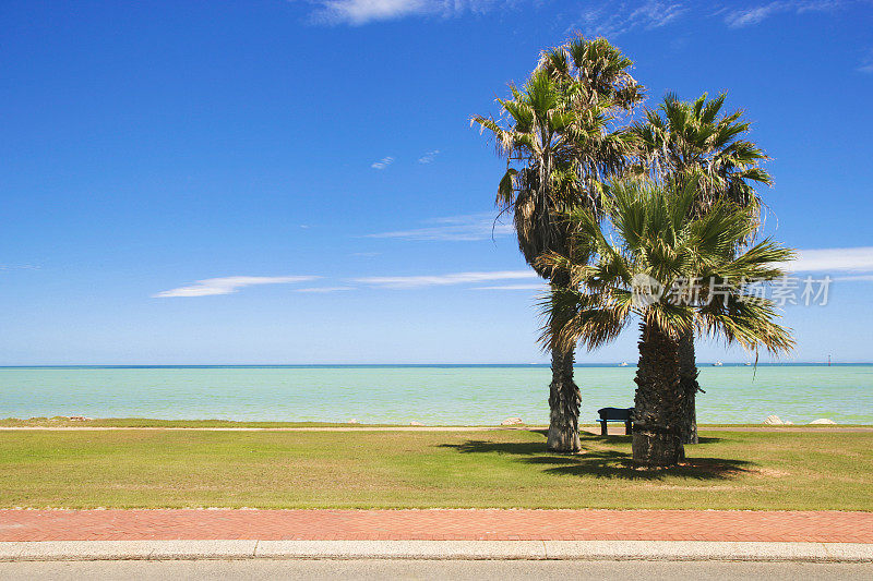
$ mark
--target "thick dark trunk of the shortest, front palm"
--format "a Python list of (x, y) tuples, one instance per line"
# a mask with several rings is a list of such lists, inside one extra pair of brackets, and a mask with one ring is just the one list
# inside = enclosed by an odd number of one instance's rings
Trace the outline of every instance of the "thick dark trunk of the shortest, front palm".
[(685, 458), (679, 341), (655, 325), (644, 323), (641, 328), (639, 364), (634, 379), (633, 459), (650, 467), (675, 465)]

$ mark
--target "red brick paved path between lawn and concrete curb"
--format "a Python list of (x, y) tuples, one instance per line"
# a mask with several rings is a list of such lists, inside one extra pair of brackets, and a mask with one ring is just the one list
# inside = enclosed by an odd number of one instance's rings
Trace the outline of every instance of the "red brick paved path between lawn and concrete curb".
[(0, 541), (177, 538), (873, 543), (873, 512), (0, 510)]

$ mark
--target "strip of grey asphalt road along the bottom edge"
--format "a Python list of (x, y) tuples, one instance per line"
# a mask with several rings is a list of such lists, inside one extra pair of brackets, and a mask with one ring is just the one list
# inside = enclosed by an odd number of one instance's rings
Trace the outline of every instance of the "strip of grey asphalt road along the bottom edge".
[(0, 579), (873, 579), (873, 564), (584, 560), (172, 560), (0, 562)]

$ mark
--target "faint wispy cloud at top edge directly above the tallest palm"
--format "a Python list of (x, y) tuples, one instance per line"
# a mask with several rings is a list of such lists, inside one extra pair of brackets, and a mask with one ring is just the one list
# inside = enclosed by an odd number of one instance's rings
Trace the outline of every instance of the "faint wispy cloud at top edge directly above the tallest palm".
[(660, 28), (686, 11), (681, 2), (658, 0), (588, 3), (583, 9), (579, 22), (571, 28), (582, 28), (589, 36), (615, 37), (638, 28)]

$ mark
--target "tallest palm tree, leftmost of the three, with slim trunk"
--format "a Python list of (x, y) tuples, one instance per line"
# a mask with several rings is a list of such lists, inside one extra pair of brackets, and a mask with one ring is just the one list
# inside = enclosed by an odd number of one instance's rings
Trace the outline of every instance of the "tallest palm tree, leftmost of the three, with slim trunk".
[[(596, 209), (599, 184), (620, 169), (630, 152), (625, 132), (609, 130), (612, 114), (630, 110), (642, 89), (631, 61), (603, 39), (582, 37), (542, 53), (527, 83), (498, 99), (501, 116), (475, 116), (493, 134), (506, 171), (497, 205), (510, 213), (518, 247), (537, 274), (566, 286), (569, 274), (536, 266), (547, 252), (565, 252), (570, 234), (562, 216), (573, 206)], [(573, 379), (574, 349), (551, 349), (548, 448), (577, 452), (581, 395)]]

